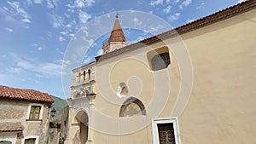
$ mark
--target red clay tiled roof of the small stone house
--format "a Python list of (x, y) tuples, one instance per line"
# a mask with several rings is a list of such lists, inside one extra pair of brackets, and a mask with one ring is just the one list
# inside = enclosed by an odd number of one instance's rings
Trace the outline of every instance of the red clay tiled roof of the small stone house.
[(15, 89), (6, 86), (0, 86), (0, 98), (45, 103), (54, 102), (54, 100), (46, 93), (32, 89)]

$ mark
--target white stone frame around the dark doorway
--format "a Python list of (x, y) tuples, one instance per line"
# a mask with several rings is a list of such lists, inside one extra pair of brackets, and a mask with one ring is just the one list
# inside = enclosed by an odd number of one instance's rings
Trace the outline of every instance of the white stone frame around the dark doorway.
[(177, 118), (154, 118), (152, 119), (152, 137), (153, 144), (160, 144), (159, 140), (159, 130), (157, 124), (173, 124), (173, 130), (175, 135), (175, 144), (181, 144), (179, 126)]

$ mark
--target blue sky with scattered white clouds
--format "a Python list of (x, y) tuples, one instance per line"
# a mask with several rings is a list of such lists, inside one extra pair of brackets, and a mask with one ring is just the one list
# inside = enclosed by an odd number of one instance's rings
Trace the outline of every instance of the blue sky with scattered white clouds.
[[(122, 27), (133, 23), (142, 26), (147, 21), (143, 20), (143, 16), (134, 14), (130, 15), (130, 19), (125, 18), (127, 11), (136, 11), (141, 15), (155, 16), (173, 28), (241, 2), (242, 0), (1, 0), (0, 84), (68, 98), (70, 94), (64, 93), (63, 89), (70, 91), (70, 88), (64, 88), (63, 83), (71, 86), (71, 70), (102, 54), (102, 41), (109, 37), (115, 14), (120, 13)], [(99, 18), (106, 22), (101, 21), (97, 27), (93, 27)], [(143, 24), (149, 26), (154, 21), (150, 20)], [(91, 38), (85, 52), (80, 52), (81, 55), (73, 54), (80, 55), (83, 59), (79, 59), (76, 64), (67, 59), (67, 55), (73, 52), (73, 43), (76, 42), (73, 40), (79, 32), (83, 31), (84, 35), (88, 35), (88, 29), (94, 29), (89, 33), (91, 35), (102, 27), (105, 28), (102, 35)], [(158, 24), (144, 27), (144, 31), (125, 27), (125, 37), (130, 43), (168, 30), (160, 29)], [(83, 36), (83, 33), (80, 35)], [(69, 65), (69, 72), (62, 71), (66, 64)], [(62, 80), (63, 73), (69, 76), (69, 80)]]

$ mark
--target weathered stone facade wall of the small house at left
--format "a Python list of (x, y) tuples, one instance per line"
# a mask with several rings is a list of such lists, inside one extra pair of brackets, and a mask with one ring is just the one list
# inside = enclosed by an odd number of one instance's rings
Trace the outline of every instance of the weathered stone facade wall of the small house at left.
[[(36, 104), (36, 103), (35, 103)], [(37, 138), (38, 143), (47, 143), (49, 129), (49, 108), (47, 104), (42, 107), (42, 119), (38, 121), (28, 121), (30, 112), (30, 102), (28, 101), (0, 101), (0, 125), (6, 129), (22, 129), (16, 138), (16, 144), (20, 144), (26, 138)], [(1, 128), (3, 129), (3, 127)], [(3, 135), (3, 134), (0, 134)]]

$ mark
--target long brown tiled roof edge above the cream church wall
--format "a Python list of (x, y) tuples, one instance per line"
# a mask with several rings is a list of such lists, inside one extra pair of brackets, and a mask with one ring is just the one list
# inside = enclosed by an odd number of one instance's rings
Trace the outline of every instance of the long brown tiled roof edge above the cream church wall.
[(246, 13), (247, 11), (255, 8), (256, 8), (256, 0), (247, 0), (246, 2), (238, 3), (235, 6), (232, 6), (227, 9), (223, 9), (221, 11), (218, 11), (215, 14), (210, 14), (204, 18), (195, 20), (186, 25), (179, 26), (175, 29), (161, 33), (154, 37), (149, 37), (138, 43), (132, 43), (122, 49), (117, 49), (107, 54), (96, 56), (96, 61), (108, 59), (115, 55), (120, 55), (128, 51), (131, 51), (132, 49), (139, 49), (145, 45), (157, 43), (167, 38), (177, 37), (178, 35), (195, 31), (196, 29), (199, 29), (201, 27), (212, 25), (213, 23), (216, 23), (218, 21), (229, 19), (230, 17), (236, 16), (237, 14)]

